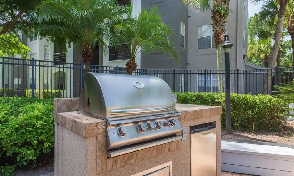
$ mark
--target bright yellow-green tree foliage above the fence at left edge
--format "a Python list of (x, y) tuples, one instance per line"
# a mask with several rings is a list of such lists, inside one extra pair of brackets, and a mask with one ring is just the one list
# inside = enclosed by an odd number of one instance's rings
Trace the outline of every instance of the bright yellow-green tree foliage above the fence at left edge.
[(27, 52), (31, 51), (29, 47), (21, 43), (16, 34), (0, 35), (0, 56), (20, 55), (27, 58)]

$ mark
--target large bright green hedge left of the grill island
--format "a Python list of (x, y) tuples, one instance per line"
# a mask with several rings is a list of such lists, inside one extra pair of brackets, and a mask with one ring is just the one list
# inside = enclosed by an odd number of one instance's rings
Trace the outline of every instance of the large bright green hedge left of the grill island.
[(0, 109), (0, 175), (53, 155), (53, 99), (1, 97)]

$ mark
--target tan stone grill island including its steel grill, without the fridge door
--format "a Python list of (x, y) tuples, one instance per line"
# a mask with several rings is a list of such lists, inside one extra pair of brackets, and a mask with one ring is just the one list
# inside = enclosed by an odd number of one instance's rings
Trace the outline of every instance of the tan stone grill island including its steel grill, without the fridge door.
[(209, 122), (220, 175), (220, 114), (216, 106), (176, 104), (157, 77), (86, 73), (80, 98), (54, 99), (55, 175), (189, 176), (188, 131)]

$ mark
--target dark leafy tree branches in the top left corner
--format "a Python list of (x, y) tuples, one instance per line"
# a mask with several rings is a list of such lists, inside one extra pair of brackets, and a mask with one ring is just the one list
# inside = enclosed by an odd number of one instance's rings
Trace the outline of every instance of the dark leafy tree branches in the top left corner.
[(33, 16), (30, 10), (39, 3), (39, 0), (0, 0), (0, 35), (7, 31), (25, 33), (31, 29)]

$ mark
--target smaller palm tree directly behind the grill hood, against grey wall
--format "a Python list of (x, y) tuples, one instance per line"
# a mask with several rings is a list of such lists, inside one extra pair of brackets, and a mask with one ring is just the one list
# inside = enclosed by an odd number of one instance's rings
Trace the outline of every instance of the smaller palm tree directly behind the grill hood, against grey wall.
[(178, 56), (171, 41), (172, 30), (163, 22), (158, 7), (143, 9), (136, 18), (132, 18), (131, 13), (128, 11), (125, 21), (113, 25), (115, 35), (111, 37), (115, 38), (112, 41), (126, 44), (123, 46), (126, 46), (130, 56), (126, 62), (127, 73), (132, 74), (136, 70), (135, 58), (140, 52), (150, 54), (161, 50), (172, 55), (177, 61)]

